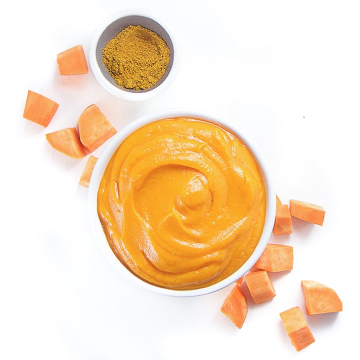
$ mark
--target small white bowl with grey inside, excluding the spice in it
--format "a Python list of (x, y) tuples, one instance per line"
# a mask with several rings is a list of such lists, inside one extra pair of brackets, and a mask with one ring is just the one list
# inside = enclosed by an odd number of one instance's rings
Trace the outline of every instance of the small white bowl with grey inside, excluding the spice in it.
[[(170, 61), (164, 75), (148, 89), (132, 90), (118, 86), (102, 62), (102, 49), (106, 43), (129, 25), (142, 25), (156, 32), (170, 49)], [(130, 101), (147, 100), (162, 92), (172, 82), (178, 61), (178, 48), (169, 27), (156, 16), (139, 10), (115, 12), (105, 18), (95, 30), (89, 46), (89, 63), (96, 80), (112, 95)]]

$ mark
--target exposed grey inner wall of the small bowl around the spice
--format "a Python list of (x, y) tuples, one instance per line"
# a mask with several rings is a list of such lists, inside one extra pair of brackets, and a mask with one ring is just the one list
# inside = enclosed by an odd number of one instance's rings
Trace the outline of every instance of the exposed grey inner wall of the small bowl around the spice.
[[(162, 37), (162, 39), (166, 42), (166, 45), (170, 49), (169, 64), (167, 65), (165, 73), (161, 76), (161, 78), (154, 85), (152, 85), (151, 87), (146, 88), (146, 89), (133, 90), (133, 89), (126, 89), (126, 88), (118, 86), (102, 61), (102, 50), (106, 46), (107, 42), (109, 40), (111, 40), (112, 38), (114, 38), (121, 30), (123, 30), (124, 28), (126, 28), (129, 25), (141, 25), (145, 28), (148, 28), (151, 31), (156, 32), (159, 36)], [(97, 61), (97, 64), (99, 66), (99, 69), (100, 69), (102, 75), (113, 86), (120, 88), (124, 91), (128, 91), (128, 92), (147, 92), (147, 91), (150, 91), (153, 88), (157, 87), (158, 85), (160, 85), (165, 80), (168, 73), (170, 72), (172, 64), (173, 64), (173, 59), (174, 59), (174, 46), (173, 46), (171, 37), (168, 34), (168, 32), (165, 30), (165, 28), (162, 25), (160, 25), (154, 19), (147, 17), (147, 16), (142, 16), (142, 15), (126, 15), (126, 16), (123, 16), (123, 17), (120, 17), (120, 18), (114, 20), (102, 31), (102, 33), (100, 34), (100, 36), (98, 38), (97, 44), (96, 44), (95, 57), (96, 57), (96, 61)]]

